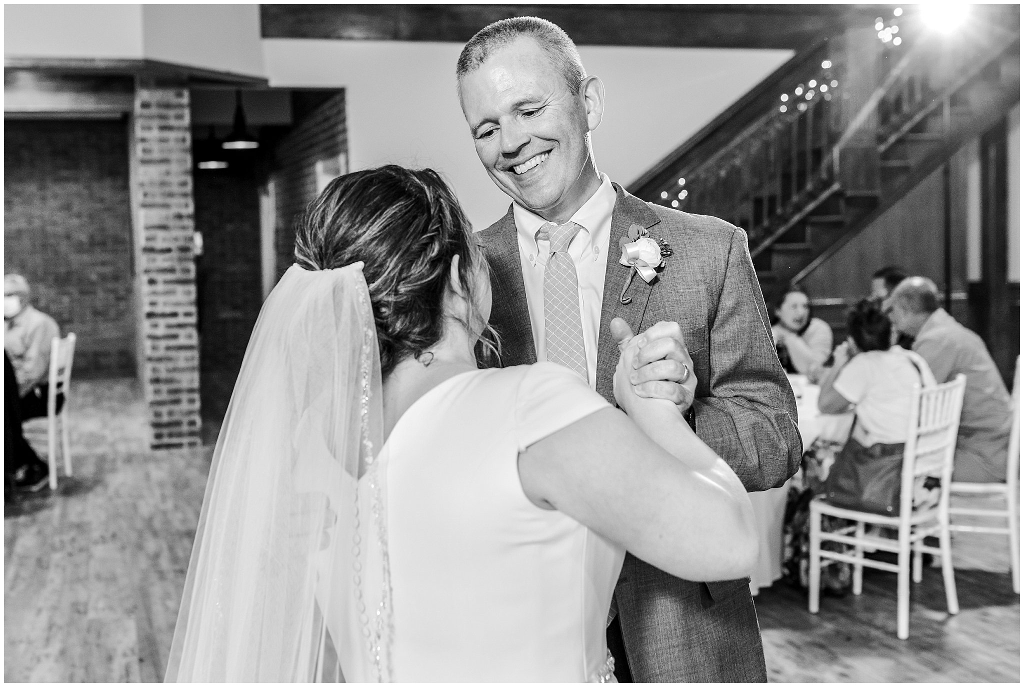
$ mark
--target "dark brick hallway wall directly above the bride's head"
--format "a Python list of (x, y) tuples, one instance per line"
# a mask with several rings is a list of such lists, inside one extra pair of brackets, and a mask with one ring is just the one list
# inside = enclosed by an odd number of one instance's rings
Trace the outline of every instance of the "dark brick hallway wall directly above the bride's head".
[(331, 96), (296, 122), (275, 149), (278, 274), (294, 261), (295, 218), (316, 197), (317, 160), (348, 152), (345, 93)]

